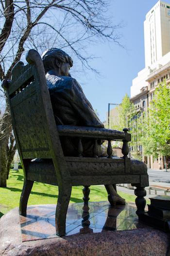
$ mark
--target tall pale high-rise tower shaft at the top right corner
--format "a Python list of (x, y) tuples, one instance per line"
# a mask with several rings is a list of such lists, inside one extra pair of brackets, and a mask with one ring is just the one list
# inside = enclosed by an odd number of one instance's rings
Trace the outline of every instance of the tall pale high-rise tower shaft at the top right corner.
[(170, 52), (170, 4), (158, 1), (144, 21), (145, 67)]

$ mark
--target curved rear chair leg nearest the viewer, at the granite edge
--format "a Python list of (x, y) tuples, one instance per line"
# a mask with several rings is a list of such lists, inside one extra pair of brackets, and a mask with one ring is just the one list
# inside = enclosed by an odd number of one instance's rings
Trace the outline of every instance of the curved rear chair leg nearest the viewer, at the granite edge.
[(59, 195), (57, 201), (57, 208), (55, 213), (55, 227), (58, 236), (66, 235), (66, 215), (68, 210), (68, 203), (71, 195), (71, 186), (65, 185), (58, 187)]

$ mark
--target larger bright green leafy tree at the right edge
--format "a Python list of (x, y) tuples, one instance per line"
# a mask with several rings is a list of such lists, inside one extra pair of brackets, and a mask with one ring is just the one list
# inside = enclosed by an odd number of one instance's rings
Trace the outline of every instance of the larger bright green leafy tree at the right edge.
[(144, 154), (170, 155), (170, 87), (163, 82), (156, 87), (148, 113), (143, 118), (142, 138)]

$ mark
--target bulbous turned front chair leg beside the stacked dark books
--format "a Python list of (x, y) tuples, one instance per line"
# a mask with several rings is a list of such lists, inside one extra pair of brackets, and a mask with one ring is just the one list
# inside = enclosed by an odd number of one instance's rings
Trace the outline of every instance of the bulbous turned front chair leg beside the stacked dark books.
[(145, 188), (136, 187), (135, 195), (136, 195), (135, 202), (136, 202), (136, 207), (137, 207), (136, 214), (137, 215), (144, 214), (144, 212), (145, 212), (145, 205), (146, 205), (146, 200), (144, 198), (146, 196)]

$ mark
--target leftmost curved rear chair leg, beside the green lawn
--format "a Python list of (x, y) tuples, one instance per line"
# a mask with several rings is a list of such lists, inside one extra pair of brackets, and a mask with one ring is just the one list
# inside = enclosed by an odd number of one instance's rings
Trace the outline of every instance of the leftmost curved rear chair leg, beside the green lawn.
[(33, 187), (34, 181), (32, 180), (24, 180), (24, 185), (20, 197), (20, 203), (19, 203), (19, 214), (26, 216), (27, 214), (27, 203), (28, 203), (28, 198), (30, 196), (32, 187)]

